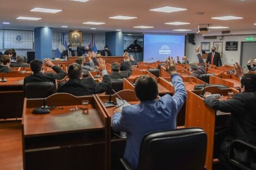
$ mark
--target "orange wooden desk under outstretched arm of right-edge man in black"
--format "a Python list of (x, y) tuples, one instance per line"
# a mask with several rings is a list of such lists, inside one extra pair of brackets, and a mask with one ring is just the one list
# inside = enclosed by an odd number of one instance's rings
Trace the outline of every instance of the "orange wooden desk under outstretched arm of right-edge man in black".
[[(233, 91), (234, 94), (237, 93), (233, 89), (220, 90), (215, 87), (206, 87), (205, 91), (223, 95), (224, 97), (221, 100), (228, 99), (228, 91)], [(204, 104), (204, 99), (198, 96), (202, 92), (202, 90), (187, 91), (185, 127), (201, 127), (204, 129), (208, 138), (205, 165), (207, 169), (211, 170), (214, 154), (216, 110)]]

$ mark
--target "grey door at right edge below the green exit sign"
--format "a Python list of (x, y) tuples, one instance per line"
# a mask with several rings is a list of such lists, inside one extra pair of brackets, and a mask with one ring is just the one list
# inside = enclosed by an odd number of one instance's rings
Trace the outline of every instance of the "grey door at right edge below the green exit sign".
[[(249, 58), (252, 58), (252, 62), (253, 59), (256, 59), (256, 53), (255, 53), (255, 49), (256, 49), (256, 42), (242, 42), (242, 56), (240, 58), (241, 61), (241, 66), (245, 67), (244, 71), (245, 73), (247, 73), (248, 68), (247, 68), (247, 61), (249, 60)], [(251, 65), (252, 65), (251, 62)]]

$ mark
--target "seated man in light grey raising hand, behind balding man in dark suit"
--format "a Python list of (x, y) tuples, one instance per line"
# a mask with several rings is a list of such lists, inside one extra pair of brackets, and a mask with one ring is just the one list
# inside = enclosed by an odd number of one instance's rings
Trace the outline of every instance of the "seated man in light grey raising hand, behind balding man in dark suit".
[[(81, 65), (83, 74), (85, 74), (85, 75), (88, 75), (89, 71), (95, 70), (95, 65), (92, 60), (92, 56), (93, 56), (93, 54), (91, 52), (88, 52), (88, 56), (86, 58), (89, 60), (89, 63), (85, 62), (84, 56), (78, 56), (76, 59), (76, 63)], [(88, 77), (88, 76), (85, 76), (85, 77)]]

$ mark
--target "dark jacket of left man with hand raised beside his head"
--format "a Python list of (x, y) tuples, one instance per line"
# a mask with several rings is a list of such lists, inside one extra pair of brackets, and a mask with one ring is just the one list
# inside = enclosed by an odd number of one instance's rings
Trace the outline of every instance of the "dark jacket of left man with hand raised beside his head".
[(53, 66), (52, 69), (57, 73), (33, 73), (28, 77), (24, 78), (24, 89), (27, 83), (34, 83), (34, 82), (52, 82), (54, 85), (56, 84), (56, 79), (61, 80), (66, 76), (66, 73), (59, 68), (58, 66)]

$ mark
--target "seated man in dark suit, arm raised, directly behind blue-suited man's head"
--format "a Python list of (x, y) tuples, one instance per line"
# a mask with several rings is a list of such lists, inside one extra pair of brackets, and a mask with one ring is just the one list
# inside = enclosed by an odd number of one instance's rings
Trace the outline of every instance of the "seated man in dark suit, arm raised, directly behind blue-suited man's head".
[(109, 77), (111, 79), (123, 79), (123, 78), (129, 78), (130, 75), (132, 74), (132, 65), (131, 61), (129, 59), (129, 55), (127, 52), (125, 52), (124, 55), (124, 62), (126, 64), (126, 71), (121, 71), (120, 72), (120, 66), (117, 62), (113, 62), (111, 65), (111, 74), (109, 74)]

